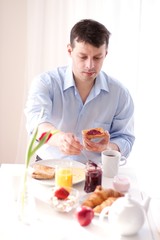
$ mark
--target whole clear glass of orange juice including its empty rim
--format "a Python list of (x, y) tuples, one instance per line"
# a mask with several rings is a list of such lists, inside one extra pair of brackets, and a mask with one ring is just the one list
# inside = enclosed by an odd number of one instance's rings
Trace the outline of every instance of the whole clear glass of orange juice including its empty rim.
[(72, 187), (73, 173), (72, 165), (69, 162), (63, 162), (56, 166), (55, 185), (56, 187)]

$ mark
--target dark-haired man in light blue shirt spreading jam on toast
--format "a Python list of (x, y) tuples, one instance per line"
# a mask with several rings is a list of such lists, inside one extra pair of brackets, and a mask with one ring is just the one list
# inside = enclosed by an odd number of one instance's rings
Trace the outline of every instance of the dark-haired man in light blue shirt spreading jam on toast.
[[(135, 137), (134, 104), (128, 90), (101, 68), (108, 51), (110, 32), (101, 23), (84, 19), (76, 23), (67, 46), (72, 63), (40, 74), (28, 96), (25, 114), (32, 133), (41, 108), (44, 115), (38, 138), (59, 130), (37, 153), (41, 159), (69, 156), (82, 163), (101, 159), (105, 149), (128, 157)], [(99, 142), (82, 138), (82, 130), (101, 127)]]

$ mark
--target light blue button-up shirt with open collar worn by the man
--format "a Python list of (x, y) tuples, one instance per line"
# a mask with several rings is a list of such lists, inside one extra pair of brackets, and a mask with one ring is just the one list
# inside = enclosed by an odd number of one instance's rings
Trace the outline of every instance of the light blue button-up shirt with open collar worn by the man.
[[(82, 130), (102, 127), (110, 133), (122, 155), (128, 157), (135, 137), (134, 104), (128, 90), (116, 79), (101, 71), (85, 104), (75, 86), (72, 68), (60, 67), (37, 76), (31, 86), (25, 115), (27, 131), (35, 127), (42, 106), (45, 109), (41, 123), (49, 122), (57, 129), (74, 133), (80, 141)], [(57, 147), (45, 144), (37, 153), (42, 159), (59, 159), (63, 154)], [(98, 162), (101, 154), (86, 151), (89, 159)], [(70, 156), (85, 163), (83, 154)]]

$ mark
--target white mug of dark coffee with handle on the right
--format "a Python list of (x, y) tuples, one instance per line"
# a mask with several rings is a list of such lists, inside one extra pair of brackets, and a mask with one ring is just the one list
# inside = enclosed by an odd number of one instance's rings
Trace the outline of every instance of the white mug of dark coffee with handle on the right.
[(127, 159), (116, 150), (105, 150), (101, 153), (103, 175), (113, 178), (118, 174), (119, 166), (126, 164)]

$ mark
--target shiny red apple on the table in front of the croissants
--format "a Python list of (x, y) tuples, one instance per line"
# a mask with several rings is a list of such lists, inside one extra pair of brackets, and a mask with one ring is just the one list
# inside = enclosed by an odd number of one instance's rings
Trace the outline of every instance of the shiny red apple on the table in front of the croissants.
[(90, 207), (79, 206), (76, 209), (76, 218), (81, 226), (87, 226), (94, 217), (94, 211)]

